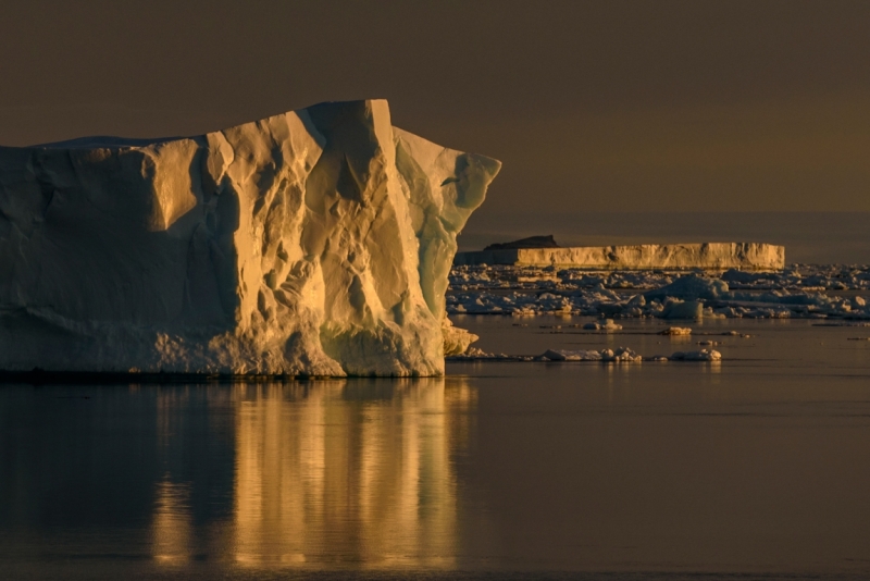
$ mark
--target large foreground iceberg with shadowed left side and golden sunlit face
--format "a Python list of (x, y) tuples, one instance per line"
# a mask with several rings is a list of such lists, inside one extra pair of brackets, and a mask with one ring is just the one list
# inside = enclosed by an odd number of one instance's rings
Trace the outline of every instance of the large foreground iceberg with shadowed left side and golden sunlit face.
[(456, 236), (499, 168), (382, 100), (0, 148), (0, 369), (440, 374)]

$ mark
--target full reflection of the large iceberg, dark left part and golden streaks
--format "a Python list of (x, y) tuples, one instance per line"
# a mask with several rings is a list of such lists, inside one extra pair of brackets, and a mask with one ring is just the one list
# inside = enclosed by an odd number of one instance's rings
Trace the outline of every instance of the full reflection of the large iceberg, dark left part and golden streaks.
[(4, 385), (0, 577), (455, 567), (475, 406), (444, 378)]

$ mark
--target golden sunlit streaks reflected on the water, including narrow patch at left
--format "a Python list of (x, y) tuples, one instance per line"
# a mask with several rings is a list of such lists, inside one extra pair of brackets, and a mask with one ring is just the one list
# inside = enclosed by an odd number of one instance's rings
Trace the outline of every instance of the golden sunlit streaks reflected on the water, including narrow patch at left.
[[(232, 390), (232, 522), (221, 527), (232, 539), (217, 542), (232, 557), (222, 558), (271, 566), (452, 566), (458, 517), (451, 458), (468, 442), (474, 390), (445, 379)], [(167, 429), (159, 405), (159, 432)], [(189, 515), (184, 486), (158, 483), (158, 560), (189, 558)]]

